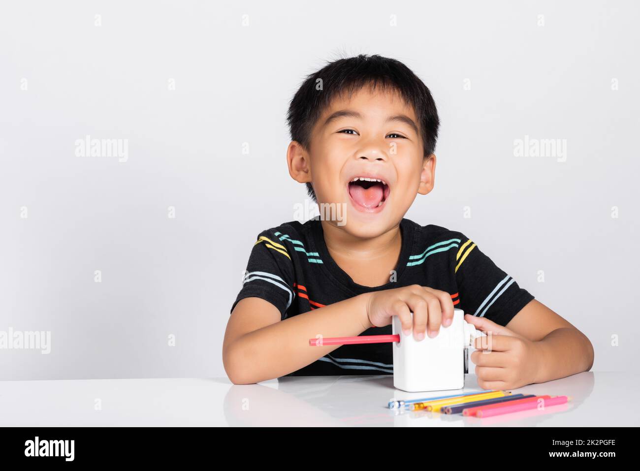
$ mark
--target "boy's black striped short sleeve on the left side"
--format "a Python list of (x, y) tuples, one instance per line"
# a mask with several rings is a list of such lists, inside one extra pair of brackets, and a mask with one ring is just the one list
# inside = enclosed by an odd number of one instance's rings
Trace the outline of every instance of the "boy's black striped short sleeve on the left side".
[(271, 230), (260, 232), (244, 271), (243, 287), (230, 312), (240, 299), (256, 297), (273, 304), (280, 311), (280, 320), (284, 319), (295, 296), (291, 256), (291, 251)]

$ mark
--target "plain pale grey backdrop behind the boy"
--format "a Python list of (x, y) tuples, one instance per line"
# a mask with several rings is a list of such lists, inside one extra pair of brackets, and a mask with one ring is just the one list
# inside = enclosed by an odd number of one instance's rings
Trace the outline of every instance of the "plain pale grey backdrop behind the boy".
[[(307, 199), (287, 173), (288, 102), (359, 53), (404, 61), (442, 118), (436, 188), (406, 217), (471, 237), (588, 335), (594, 369), (637, 371), (638, 13), (3, 3), (0, 331), (51, 337), (46, 354), (1, 349), (0, 379), (225, 376), (255, 237)], [(86, 136), (116, 147), (92, 156)]]

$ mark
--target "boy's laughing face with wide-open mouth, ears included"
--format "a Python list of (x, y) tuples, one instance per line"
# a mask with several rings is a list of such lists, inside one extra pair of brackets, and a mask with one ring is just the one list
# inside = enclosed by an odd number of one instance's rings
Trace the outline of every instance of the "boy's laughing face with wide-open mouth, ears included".
[[(433, 188), (435, 156), (423, 154), (413, 107), (395, 93), (365, 87), (333, 100), (312, 129), (309, 152), (293, 141), (287, 157), (291, 176), (312, 182), (319, 204), (340, 206), (346, 224), (332, 225), (374, 237), (399, 223), (417, 193)], [(328, 217), (322, 207), (321, 214)]]

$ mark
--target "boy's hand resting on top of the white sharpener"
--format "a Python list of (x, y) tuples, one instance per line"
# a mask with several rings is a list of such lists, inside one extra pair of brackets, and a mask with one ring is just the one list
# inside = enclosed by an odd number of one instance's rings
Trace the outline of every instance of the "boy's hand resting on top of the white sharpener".
[[(415, 340), (436, 337), (440, 324), (447, 327), (453, 320), (453, 301), (445, 291), (426, 286), (410, 285), (401, 288), (373, 291), (367, 302), (367, 316), (373, 326), (388, 326), (397, 315), (404, 335)], [(413, 312), (413, 319), (411, 313)]]

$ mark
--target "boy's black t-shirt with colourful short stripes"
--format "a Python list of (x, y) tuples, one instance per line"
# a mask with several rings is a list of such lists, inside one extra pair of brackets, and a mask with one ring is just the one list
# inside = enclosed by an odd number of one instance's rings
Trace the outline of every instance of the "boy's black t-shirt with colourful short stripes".
[[(368, 287), (353, 282), (333, 261), (319, 218), (292, 221), (260, 232), (246, 267), (240, 299), (266, 299), (281, 320), (358, 294), (419, 284), (451, 294), (454, 307), (506, 325), (534, 297), (484, 255), (461, 232), (436, 225), (420, 226), (403, 218), (402, 248), (395, 278)], [(360, 335), (390, 334), (391, 325)], [(342, 345), (287, 376), (392, 374), (392, 344)]]

